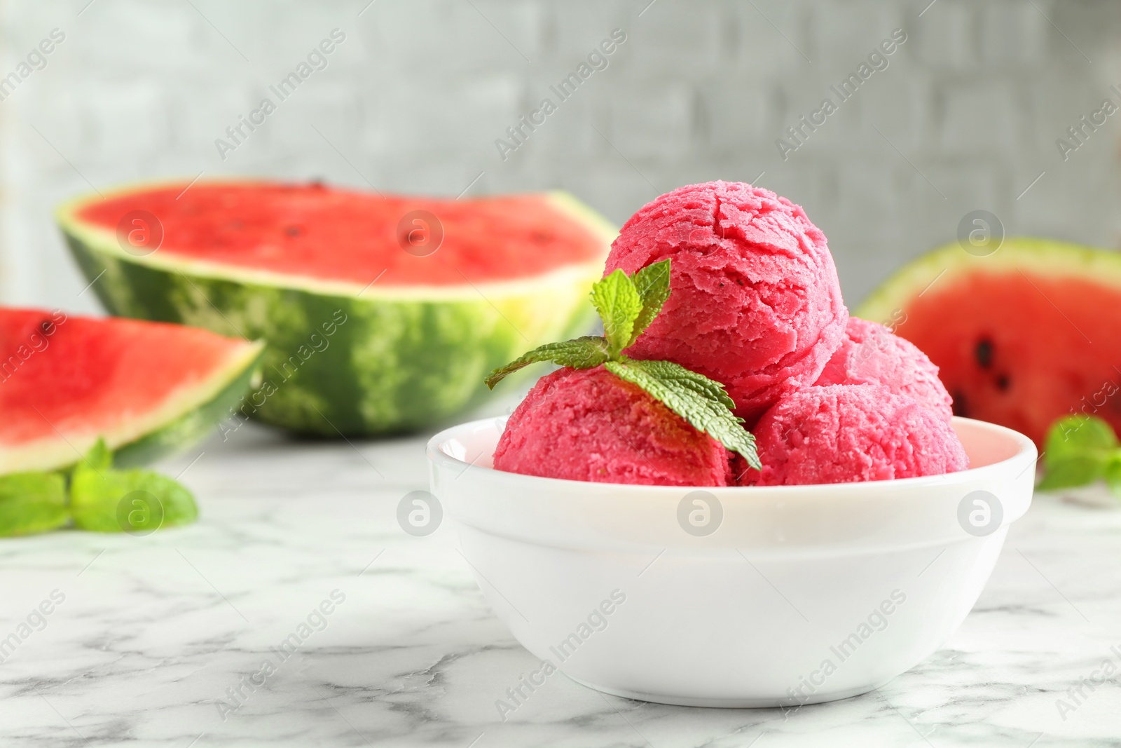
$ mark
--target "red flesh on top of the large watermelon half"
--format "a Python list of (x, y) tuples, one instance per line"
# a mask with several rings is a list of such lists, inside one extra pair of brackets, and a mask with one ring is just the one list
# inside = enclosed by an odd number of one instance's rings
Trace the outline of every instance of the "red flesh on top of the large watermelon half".
[[(77, 218), (115, 231), (131, 211), (159, 220), (163, 255), (257, 271), (361, 286), (462, 285), (548, 273), (602, 258), (602, 237), (546, 194), (469, 200), (415, 198), (319, 185), (204, 183), (110, 195)], [(432, 255), (402, 250), (402, 232), (430, 229), (405, 218), (437, 216), (443, 242)], [(385, 275), (382, 273), (385, 271)]]

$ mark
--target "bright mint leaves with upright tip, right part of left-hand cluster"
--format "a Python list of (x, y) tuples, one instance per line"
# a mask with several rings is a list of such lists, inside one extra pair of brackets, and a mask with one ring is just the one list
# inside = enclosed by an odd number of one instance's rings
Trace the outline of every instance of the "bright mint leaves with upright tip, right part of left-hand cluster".
[(71, 515), (76, 527), (148, 535), (198, 517), (195, 497), (178, 481), (149, 470), (113, 470), (99, 447), (104, 447), (101, 441), (71, 478)]

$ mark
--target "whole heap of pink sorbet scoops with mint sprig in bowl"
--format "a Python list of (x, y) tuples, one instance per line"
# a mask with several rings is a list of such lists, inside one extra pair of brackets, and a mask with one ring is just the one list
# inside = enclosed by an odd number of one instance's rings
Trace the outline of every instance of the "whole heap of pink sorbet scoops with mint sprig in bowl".
[(510, 417), (498, 470), (707, 487), (969, 467), (937, 367), (886, 326), (849, 316), (825, 236), (770, 191), (710, 182), (648, 203), (612, 243), (592, 301), (603, 338), (508, 364), (564, 368)]

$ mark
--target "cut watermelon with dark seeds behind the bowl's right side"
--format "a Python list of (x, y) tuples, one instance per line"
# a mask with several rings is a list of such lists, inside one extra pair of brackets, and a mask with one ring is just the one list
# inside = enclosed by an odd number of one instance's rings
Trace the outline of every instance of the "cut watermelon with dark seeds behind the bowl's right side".
[(904, 267), (855, 311), (938, 366), (957, 415), (1043, 445), (1063, 416), (1121, 431), (1121, 255), (1007, 239), (988, 257), (960, 244)]

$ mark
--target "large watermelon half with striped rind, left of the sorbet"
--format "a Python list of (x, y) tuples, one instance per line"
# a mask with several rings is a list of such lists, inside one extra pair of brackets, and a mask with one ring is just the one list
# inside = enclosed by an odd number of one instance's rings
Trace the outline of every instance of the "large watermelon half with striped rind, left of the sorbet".
[(113, 314), (265, 340), (244, 415), (327, 436), (443, 421), (487, 396), (494, 367), (586, 332), (617, 233), (563, 193), (317, 183), (141, 185), (57, 219)]

